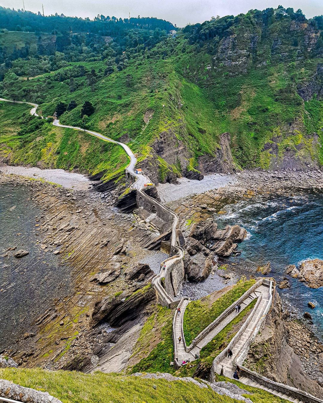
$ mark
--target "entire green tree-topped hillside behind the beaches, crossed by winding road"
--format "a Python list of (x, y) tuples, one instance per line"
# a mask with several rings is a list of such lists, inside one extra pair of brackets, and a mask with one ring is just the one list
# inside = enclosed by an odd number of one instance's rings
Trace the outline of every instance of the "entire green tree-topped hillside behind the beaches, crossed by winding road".
[[(20, 14), (24, 24), (67, 18)], [(120, 24), (102, 20), (80, 21)], [(306, 19), (301, 10), (279, 6), (212, 18), (176, 34), (161, 26), (107, 35), (0, 25), (0, 93), (37, 102), (46, 115), (56, 111), (62, 123), (122, 139), (155, 183), (323, 164), (322, 16)], [(84, 109), (84, 102), (91, 105)], [(9, 127), (13, 112), (1, 108)], [(0, 159), (120, 177), (122, 150), (100, 154), (84, 135), (53, 133), (46, 122), (19, 114), (14, 134), (0, 135)]]

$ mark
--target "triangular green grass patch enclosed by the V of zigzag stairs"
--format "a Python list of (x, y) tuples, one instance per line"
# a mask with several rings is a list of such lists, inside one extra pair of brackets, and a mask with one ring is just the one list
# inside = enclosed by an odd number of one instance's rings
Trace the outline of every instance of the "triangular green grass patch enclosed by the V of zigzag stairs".
[(184, 314), (184, 335), (189, 346), (193, 339), (222, 314), (233, 302), (241, 297), (256, 281), (239, 281), (232, 290), (218, 298), (212, 305), (208, 301), (191, 301)]

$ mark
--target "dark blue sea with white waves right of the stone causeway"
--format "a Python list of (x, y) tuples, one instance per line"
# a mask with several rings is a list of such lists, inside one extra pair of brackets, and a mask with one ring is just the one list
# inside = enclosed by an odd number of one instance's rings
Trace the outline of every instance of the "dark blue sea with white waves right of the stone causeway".
[[(276, 280), (286, 276), (291, 289), (279, 290), (290, 311), (302, 316), (305, 311), (313, 317), (314, 331), (323, 334), (323, 287), (312, 289), (289, 277), (285, 268), (289, 264), (298, 267), (309, 259), (323, 260), (323, 195), (306, 194), (296, 197), (279, 197), (269, 201), (239, 201), (226, 206), (226, 214), (216, 215), (220, 226), (239, 224), (247, 232), (247, 238), (238, 245), (242, 253), (230, 257), (229, 262), (254, 270), (271, 262), (268, 276)], [(308, 301), (315, 303), (310, 310)]]

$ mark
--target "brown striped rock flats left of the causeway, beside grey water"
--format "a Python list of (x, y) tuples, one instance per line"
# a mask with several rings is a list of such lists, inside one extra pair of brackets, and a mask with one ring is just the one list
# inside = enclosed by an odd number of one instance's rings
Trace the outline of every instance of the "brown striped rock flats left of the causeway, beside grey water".
[[(83, 351), (86, 357), (96, 355), (94, 351), (105, 337), (105, 328), (102, 328), (100, 334), (92, 338), (94, 327), (105, 320), (109, 312), (106, 307), (100, 310), (99, 306), (122, 306), (109, 319), (115, 327), (127, 323), (126, 327), (130, 326), (127, 311), (135, 313), (138, 323), (144, 323), (147, 306), (151, 299), (155, 299), (155, 293), (147, 293), (146, 302), (138, 298), (141, 293), (134, 299), (131, 297), (138, 289), (147, 286), (152, 276), (149, 266), (147, 269), (147, 265), (140, 264), (140, 261), (151, 254), (141, 245), (156, 236), (154, 229), (138, 222), (133, 214), (120, 213), (107, 206), (93, 191), (64, 189), (1, 172), (0, 183), (1, 187), (12, 191), (15, 187), (28, 190), (25, 193), (30, 194), (29, 202), (41, 211), (35, 215), (29, 230), (36, 239), (36, 248), (44, 256), (56, 256), (58, 270), (68, 266), (71, 272), (68, 280), (71, 291), (63, 297), (52, 295), (46, 303), (44, 301), (30, 328), (25, 328), (23, 322), (18, 325), (17, 337), (10, 345), (2, 346), (6, 354), (12, 356), (19, 366), (59, 369), (71, 365), (73, 368), (71, 363), (79, 351)], [(27, 243), (24, 248), (29, 252), (27, 256), (33, 258)], [(15, 245), (9, 249), (1, 251), (6, 265), (18, 259), (13, 256), (17, 252)], [(20, 263), (26, 258), (23, 255), (19, 258)], [(44, 279), (35, 278), (35, 281), (43, 282)], [(13, 283), (4, 283), (0, 293), (8, 293), (13, 286)], [(125, 299), (128, 299), (127, 304), (122, 303)], [(118, 337), (114, 339), (113, 345)], [(107, 342), (105, 346), (111, 349), (112, 345)]]

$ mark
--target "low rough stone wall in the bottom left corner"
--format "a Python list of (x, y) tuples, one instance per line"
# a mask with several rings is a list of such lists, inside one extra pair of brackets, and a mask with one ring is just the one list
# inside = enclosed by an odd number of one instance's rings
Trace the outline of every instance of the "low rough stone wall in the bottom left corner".
[(51, 396), (48, 392), (40, 392), (35, 389), (25, 388), (5, 379), (0, 379), (0, 402), (1, 397), (18, 402), (62, 403), (61, 400)]

